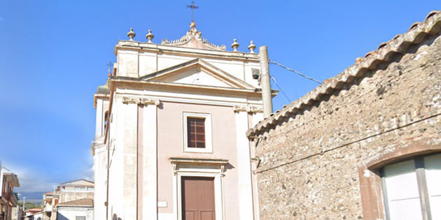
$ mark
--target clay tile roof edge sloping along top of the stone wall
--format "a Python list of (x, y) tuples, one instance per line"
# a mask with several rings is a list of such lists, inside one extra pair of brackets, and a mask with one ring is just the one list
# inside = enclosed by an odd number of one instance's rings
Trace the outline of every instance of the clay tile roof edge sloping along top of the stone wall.
[(356, 64), (349, 66), (342, 73), (325, 80), (322, 85), (309, 91), (302, 98), (283, 106), (281, 110), (258, 122), (252, 129), (246, 131), (248, 138), (260, 135), (271, 129), (284, 117), (295, 114), (298, 110), (312, 105), (315, 101), (321, 101), (323, 94), (331, 94), (337, 89), (342, 89), (346, 83), (351, 83), (354, 78), (363, 78), (367, 70), (374, 70), (378, 64), (390, 61), (393, 54), (403, 54), (409, 45), (422, 43), (430, 35), (438, 35), (441, 32), (441, 11), (430, 12), (424, 22), (415, 22), (405, 34), (398, 34), (387, 43), (381, 43), (375, 51), (368, 52), (365, 57), (356, 59)]

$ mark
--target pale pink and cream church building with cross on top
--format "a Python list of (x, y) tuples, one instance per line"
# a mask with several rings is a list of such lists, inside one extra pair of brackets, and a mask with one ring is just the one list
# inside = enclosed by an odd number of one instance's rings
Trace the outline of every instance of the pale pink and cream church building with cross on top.
[(246, 138), (262, 119), (255, 45), (227, 51), (195, 22), (175, 41), (135, 35), (94, 94), (94, 219), (258, 219)]

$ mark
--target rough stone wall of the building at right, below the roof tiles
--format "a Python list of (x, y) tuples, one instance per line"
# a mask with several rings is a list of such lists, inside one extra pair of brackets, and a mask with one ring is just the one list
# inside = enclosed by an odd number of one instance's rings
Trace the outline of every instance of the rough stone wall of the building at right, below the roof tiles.
[(358, 167), (415, 144), (441, 145), (440, 36), (255, 139), (260, 219), (363, 219)]

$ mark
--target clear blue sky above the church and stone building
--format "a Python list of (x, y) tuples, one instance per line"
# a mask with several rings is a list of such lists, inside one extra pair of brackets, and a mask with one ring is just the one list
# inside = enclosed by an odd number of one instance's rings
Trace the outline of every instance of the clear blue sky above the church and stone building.
[[(41, 192), (92, 178), (92, 95), (104, 84), (113, 47), (127, 39), (154, 43), (188, 30), (190, 1), (0, 0), (0, 160), (18, 173), (17, 191)], [(267, 45), (269, 58), (318, 80), (421, 22), (441, 1), (196, 1), (197, 29), (212, 43), (247, 51)], [(270, 66), (291, 101), (315, 82)], [(275, 87), (275, 89), (277, 89)], [(274, 110), (288, 104), (279, 94)]]

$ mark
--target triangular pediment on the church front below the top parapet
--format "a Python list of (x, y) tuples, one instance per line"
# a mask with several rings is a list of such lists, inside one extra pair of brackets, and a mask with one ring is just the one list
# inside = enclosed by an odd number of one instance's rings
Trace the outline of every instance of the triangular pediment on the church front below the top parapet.
[(148, 82), (167, 82), (208, 87), (228, 87), (234, 89), (255, 89), (252, 85), (235, 78), (230, 73), (209, 64), (202, 59), (193, 59), (141, 78)]

